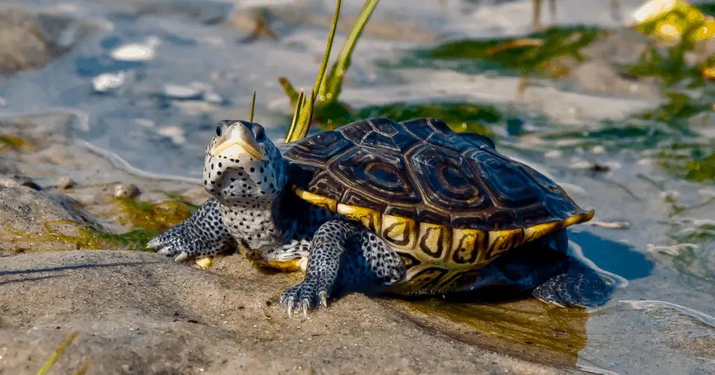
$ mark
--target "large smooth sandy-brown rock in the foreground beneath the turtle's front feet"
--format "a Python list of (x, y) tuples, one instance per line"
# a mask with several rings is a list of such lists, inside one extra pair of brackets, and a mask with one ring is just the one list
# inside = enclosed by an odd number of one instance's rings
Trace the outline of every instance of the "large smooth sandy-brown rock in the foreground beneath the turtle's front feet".
[(52, 251), (0, 263), (0, 343), (7, 374), (571, 374), (420, 328), (378, 299), (350, 295), (288, 319), (295, 283), (240, 256), (212, 271), (134, 251)]

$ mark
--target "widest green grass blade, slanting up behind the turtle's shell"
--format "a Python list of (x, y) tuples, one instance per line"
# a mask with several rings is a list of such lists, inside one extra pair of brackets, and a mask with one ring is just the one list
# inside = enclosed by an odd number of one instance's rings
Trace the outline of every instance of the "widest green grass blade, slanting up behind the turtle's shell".
[(324, 98), (323, 100), (337, 101), (337, 97), (340, 96), (342, 81), (345, 78), (347, 69), (350, 69), (350, 64), (352, 64), (352, 51), (355, 50), (355, 45), (358, 44), (365, 25), (368, 24), (370, 16), (372, 16), (375, 7), (378, 6), (378, 1), (379, 0), (365, 1), (363, 10), (360, 11), (358, 19), (355, 20), (355, 25), (352, 26), (350, 34), (347, 36), (347, 39), (345, 39), (345, 44), (342, 45), (340, 57), (338, 57), (332, 69), (330, 69), (330, 74), (328, 74), (325, 82), (320, 87), (318, 97)]

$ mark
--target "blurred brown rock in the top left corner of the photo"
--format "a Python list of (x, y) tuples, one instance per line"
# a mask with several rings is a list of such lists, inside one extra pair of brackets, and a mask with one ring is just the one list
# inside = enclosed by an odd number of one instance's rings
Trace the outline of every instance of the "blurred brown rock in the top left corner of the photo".
[(25, 9), (0, 10), (0, 74), (39, 69), (66, 54), (79, 40), (92, 32), (68, 16)]

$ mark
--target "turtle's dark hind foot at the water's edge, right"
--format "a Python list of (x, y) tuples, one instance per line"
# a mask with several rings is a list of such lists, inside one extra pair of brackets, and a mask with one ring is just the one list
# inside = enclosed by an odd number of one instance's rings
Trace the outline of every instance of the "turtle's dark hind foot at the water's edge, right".
[(573, 270), (548, 279), (537, 286), (532, 295), (547, 304), (561, 307), (596, 307), (605, 304), (616, 288), (612, 281), (596, 272)]

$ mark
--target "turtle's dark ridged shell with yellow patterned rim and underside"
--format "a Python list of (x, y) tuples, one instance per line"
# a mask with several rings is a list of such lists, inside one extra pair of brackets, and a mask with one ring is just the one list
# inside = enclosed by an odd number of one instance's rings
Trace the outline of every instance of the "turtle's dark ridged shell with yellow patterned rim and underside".
[(285, 145), (284, 158), (300, 198), (398, 251), (402, 291), (454, 290), (505, 251), (594, 214), (488, 137), (439, 119), (356, 121)]

